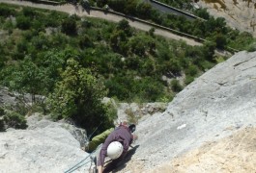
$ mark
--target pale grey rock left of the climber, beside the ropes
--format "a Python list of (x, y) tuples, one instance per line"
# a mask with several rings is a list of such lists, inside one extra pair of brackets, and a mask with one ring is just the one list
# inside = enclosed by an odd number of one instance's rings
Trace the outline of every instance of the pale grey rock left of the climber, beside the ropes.
[[(77, 128), (46, 119), (38, 121), (37, 116), (28, 118), (28, 125), (28, 130), (0, 133), (1, 173), (64, 172), (88, 156), (71, 135)], [(90, 159), (86, 161), (90, 163)], [(76, 172), (88, 172), (89, 163)]]

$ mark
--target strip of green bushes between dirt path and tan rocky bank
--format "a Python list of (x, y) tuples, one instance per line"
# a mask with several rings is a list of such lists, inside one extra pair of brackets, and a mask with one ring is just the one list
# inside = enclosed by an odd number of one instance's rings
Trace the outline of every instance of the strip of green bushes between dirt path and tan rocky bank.
[[(213, 43), (216, 44), (216, 47), (220, 49), (232, 47), (237, 50), (248, 50), (249, 47), (247, 46), (254, 42), (253, 37), (248, 33), (242, 34), (243, 36), (246, 36), (243, 39), (239, 31), (227, 27), (224, 18), (218, 17), (215, 19), (206, 11), (206, 9), (193, 9), (190, 5), (190, 1), (188, 0), (159, 1), (178, 9), (185, 11), (189, 10), (189, 12), (194, 13), (195, 15), (206, 20), (187, 20), (185, 16), (159, 12), (150, 4), (139, 0), (91, 0), (90, 4), (100, 8), (104, 8), (107, 5), (110, 9), (116, 12), (122, 12), (128, 14), (128, 16), (139, 17), (141, 19), (154, 22), (194, 37), (200, 37), (213, 41)], [(241, 40), (247, 40), (246, 44), (236, 43), (240, 42)]]

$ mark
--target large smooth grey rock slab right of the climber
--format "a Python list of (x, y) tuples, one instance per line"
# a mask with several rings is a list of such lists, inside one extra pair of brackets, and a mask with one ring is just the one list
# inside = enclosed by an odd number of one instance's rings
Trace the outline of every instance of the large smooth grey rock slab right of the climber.
[(205, 142), (255, 127), (255, 95), (256, 52), (217, 64), (186, 86), (166, 111), (139, 123), (139, 146), (124, 172), (148, 172)]

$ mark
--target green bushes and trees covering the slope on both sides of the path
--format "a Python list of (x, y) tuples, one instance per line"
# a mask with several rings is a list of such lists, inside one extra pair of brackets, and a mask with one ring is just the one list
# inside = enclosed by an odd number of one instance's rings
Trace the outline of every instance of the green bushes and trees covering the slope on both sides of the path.
[[(102, 7), (107, 1), (90, 2)], [(104, 129), (115, 118), (116, 110), (111, 103), (102, 103), (103, 97), (125, 102), (169, 102), (175, 93), (220, 60), (214, 56), (215, 48), (244, 48), (254, 41), (204, 11), (199, 13), (209, 17), (208, 22), (189, 22), (183, 17), (159, 14), (137, 1), (107, 3), (142, 18), (150, 13), (149, 19), (156, 23), (211, 41), (204, 46), (188, 46), (183, 41), (157, 37), (155, 29), (136, 31), (127, 20), (115, 24), (0, 4), (0, 32), (4, 34), (0, 40), (0, 81), (23, 96), (21, 116), (41, 107), (55, 119), (74, 119), (88, 132), (100, 121), (104, 122)], [(135, 5), (138, 9), (131, 12)], [(185, 81), (178, 81), (182, 76)], [(31, 94), (31, 104), (26, 104), (26, 93)], [(46, 98), (48, 102), (44, 102)]]

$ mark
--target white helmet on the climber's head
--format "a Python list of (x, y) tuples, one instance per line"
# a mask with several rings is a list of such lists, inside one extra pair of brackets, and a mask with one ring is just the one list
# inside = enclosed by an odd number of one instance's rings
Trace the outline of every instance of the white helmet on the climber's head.
[(119, 141), (113, 141), (111, 142), (106, 150), (106, 155), (111, 160), (118, 159), (123, 153), (123, 145)]

